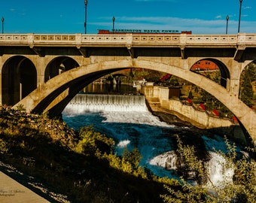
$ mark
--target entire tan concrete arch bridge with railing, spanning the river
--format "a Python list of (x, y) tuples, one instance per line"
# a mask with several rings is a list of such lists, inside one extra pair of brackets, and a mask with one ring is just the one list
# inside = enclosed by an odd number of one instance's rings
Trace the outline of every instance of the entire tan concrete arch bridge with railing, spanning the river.
[[(190, 71), (215, 62), (221, 85)], [(1, 102), (52, 115), (93, 80), (125, 68), (181, 77), (222, 102), (256, 140), (256, 114), (239, 100), (243, 68), (256, 59), (256, 35), (0, 35)]]

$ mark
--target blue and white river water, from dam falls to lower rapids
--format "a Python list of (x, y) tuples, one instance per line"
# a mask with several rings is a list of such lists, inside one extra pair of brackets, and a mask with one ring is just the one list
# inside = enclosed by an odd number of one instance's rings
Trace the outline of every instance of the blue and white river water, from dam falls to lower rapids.
[[(137, 147), (142, 154), (141, 165), (160, 177), (178, 178), (173, 173), (178, 158), (165, 131), (168, 129), (172, 133), (172, 129), (180, 127), (154, 117), (148, 111), (143, 95), (79, 94), (62, 113), (63, 120), (74, 129), (93, 124), (96, 131), (114, 138), (118, 155), (123, 153), (123, 147), (129, 150)], [(203, 140), (209, 151), (212, 147), (224, 149), (224, 140), (221, 138), (204, 137)], [(209, 183), (219, 186), (222, 180), (232, 181), (233, 171), (221, 164), (224, 162), (223, 157), (213, 152), (210, 152), (210, 156), (211, 159), (206, 163)]]

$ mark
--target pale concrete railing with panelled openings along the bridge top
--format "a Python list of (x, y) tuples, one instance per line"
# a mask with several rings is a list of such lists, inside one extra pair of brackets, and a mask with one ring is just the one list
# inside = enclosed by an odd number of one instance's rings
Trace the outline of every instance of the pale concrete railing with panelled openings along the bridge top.
[(248, 46), (256, 46), (256, 34), (239, 33), (238, 35), (176, 35), (176, 34), (126, 34), (126, 35), (48, 35), (48, 34), (0, 34), (0, 45), (12, 46), (27, 44), (31, 46), (78, 46), (78, 45), (122, 45), (134, 44), (139, 46), (142, 44), (168, 46), (178, 45), (236, 45), (245, 44)]

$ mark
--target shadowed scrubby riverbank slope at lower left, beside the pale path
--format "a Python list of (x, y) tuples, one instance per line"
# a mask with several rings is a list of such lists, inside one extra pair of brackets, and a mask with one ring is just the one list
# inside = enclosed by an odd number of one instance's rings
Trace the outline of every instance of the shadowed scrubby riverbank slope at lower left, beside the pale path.
[(81, 135), (65, 123), (11, 108), (0, 112), (0, 170), (47, 201), (153, 203), (162, 201), (164, 184), (177, 188), (177, 180), (142, 169), (132, 174), (133, 162), (110, 153), (98, 132), (84, 132), (96, 139), (81, 148), (86, 154), (78, 153)]

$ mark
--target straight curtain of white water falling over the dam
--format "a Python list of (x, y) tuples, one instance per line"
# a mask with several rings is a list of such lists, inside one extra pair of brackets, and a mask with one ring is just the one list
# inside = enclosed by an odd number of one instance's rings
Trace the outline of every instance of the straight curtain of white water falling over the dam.
[(144, 95), (78, 94), (63, 112), (83, 114), (87, 111), (148, 111)]

